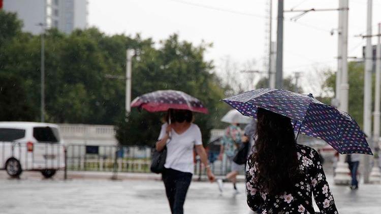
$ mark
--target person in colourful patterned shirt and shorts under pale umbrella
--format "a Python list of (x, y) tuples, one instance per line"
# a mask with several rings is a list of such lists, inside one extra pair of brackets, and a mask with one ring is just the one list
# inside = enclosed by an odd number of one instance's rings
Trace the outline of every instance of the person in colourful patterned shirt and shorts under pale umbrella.
[[(226, 179), (233, 183), (233, 189), (235, 193), (239, 193), (236, 183), (237, 183), (237, 175), (239, 174), (240, 170), (243, 170), (243, 165), (239, 165), (233, 161), (234, 157), (236, 156), (238, 152), (238, 148), (241, 146), (242, 142), (242, 130), (239, 128), (239, 124), (232, 123), (225, 129), (225, 134), (223, 138), (221, 138), (221, 147), (218, 159), (223, 160), (224, 153), (226, 154), (229, 165), (230, 165), (230, 172), (226, 175)], [(217, 184), (219, 190), (222, 192), (222, 182), (223, 180), (218, 179)]]

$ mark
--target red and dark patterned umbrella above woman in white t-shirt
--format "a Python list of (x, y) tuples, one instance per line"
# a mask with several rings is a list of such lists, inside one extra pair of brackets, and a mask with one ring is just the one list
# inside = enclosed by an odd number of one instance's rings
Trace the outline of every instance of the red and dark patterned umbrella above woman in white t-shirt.
[(189, 110), (208, 113), (201, 101), (182, 91), (159, 90), (136, 97), (131, 107), (138, 107), (148, 112), (165, 112), (169, 109)]

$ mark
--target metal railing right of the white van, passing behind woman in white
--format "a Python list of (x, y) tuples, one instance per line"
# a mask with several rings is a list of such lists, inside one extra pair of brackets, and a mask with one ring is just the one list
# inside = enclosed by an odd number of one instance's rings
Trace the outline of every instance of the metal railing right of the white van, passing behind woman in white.
[[(151, 147), (67, 145), (67, 169), (74, 171), (151, 172)], [(210, 164), (216, 175), (229, 172), (226, 157)], [(198, 156), (195, 158), (195, 175), (205, 174)]]

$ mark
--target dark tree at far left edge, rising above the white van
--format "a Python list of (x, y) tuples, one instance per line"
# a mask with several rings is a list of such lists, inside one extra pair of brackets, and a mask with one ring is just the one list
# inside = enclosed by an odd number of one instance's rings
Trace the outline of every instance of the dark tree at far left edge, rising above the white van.
[(15, 73), (18, 66), (13, 66), (24, 58), (14, 57), (19, 47), (26, 48), (20, 43), (30, 39), (30, 34), (22, 33), (21, 27), (15, 13), (0, 10), (0, 120), (33, 121), (38, 114), (27, 90), (30, 82), (20, 79)]

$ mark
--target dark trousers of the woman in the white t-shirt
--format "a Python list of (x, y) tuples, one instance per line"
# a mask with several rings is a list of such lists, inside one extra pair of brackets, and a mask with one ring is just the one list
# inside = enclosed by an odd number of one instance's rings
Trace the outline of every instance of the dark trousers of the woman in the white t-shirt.
[(192, 181), (192, 173), (165, 169), (162, 175), (172, 214), (184, 213), (183, 205), (190, 181)]

